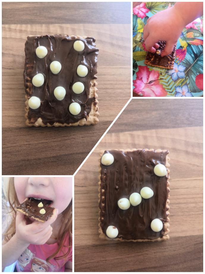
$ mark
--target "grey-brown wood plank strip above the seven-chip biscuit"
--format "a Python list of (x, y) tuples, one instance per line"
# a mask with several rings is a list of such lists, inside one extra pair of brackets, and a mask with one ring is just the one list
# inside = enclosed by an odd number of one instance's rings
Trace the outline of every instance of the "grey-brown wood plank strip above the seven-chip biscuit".
[(203, 99), (201, 98), (192, 100), (135, 98), (109, 133), (122, 132), (122, 128), (135, 131), (195, 126), (203, 126)]

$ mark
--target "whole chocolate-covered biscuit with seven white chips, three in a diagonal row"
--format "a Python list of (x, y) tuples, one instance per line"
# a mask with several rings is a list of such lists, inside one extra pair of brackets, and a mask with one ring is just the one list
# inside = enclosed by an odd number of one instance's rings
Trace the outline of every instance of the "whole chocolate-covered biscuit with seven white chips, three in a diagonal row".
[(100, 238), (120, 241), (169, 239), (167, 150), (100, 153)]

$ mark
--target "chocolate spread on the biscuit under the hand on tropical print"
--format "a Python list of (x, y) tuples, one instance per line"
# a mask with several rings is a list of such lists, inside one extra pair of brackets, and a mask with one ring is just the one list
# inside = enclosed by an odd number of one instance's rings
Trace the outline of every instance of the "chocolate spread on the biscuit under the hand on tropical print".
[[(159, 41), (158, 45), (160, 46), (158, 50), (162, 52), (165, 49), (166, 42)], [(161, 55), (157, 53), (147, 52), (144, 63), (145, 65), (148, 65), (148, 66), (172, 69), (174, 67), (175, 55), (176, 55), (176, 44), (174, 45), (173, 51), (164, 57), (161, 57)]]

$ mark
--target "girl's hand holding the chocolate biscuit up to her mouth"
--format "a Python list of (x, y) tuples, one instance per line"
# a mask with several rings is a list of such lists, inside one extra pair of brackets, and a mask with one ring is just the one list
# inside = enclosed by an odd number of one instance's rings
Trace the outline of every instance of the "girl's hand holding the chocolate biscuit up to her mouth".
[(23, 244), (43, 245), (52, 235), (51, 224), (58, 216), (58, 209), (53, 210), (53, 216), (48, 221), (42, 223), (34, 221), (26, 225), (25, 215), (17, 212), (16, 215), (16, 239)]

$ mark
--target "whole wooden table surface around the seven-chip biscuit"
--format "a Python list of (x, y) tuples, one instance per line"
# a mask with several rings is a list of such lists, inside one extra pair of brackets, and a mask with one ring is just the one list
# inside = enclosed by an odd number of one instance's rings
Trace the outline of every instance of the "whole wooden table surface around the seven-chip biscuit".
[[(75, 271), (203, 271), (203, 100), (132, 99), (75, 175)], [(98, 234), (98, 153), (170, 152), (170, 239), (114, 242)]]

